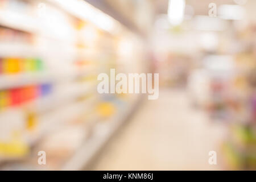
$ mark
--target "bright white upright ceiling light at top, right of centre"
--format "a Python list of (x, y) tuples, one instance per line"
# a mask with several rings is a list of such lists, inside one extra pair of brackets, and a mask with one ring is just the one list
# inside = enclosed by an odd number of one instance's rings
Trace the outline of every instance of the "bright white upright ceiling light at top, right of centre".
[(174, 26), (182, 23), (184, 18), (185, 0), (169, 0), (168, 19)]

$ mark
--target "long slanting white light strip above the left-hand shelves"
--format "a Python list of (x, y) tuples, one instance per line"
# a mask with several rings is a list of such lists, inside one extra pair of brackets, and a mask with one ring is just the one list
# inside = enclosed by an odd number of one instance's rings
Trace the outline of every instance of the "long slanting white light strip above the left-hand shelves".
[(96, 9), (89, 3), (79, 0), (51, 0), (58, 3), (63, 9), (69, 13), (85, 20), (89, 20), (97, 27), (108, 32), (116, 32), (119, 30), (119, 24), (109, 15)]

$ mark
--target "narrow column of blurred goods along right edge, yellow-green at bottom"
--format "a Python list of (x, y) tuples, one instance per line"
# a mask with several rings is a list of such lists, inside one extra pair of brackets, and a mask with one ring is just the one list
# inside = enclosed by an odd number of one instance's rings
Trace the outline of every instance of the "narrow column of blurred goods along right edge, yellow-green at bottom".
[[(256, 54), (255, 28), (250, 27), (240, 35), (246, 49), (236, 55), (236, 74), (232, 81), (232, 100), (229, 108), (233, 122), (230, 137), (224, 143), (225, 163), (232, 169), (256, 169)], [(248, 39), (246, 39), (246, 37)]]

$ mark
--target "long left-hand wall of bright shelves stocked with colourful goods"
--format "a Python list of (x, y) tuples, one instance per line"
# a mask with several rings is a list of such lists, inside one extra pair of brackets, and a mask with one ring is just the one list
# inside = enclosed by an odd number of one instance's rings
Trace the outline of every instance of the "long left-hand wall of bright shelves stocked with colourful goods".
[(67, 2), (0, 0), (3, 169), (81, 169), (138, 101), (98, 94), (97, 75), (144, 72), (140, 40), (88, 3)]

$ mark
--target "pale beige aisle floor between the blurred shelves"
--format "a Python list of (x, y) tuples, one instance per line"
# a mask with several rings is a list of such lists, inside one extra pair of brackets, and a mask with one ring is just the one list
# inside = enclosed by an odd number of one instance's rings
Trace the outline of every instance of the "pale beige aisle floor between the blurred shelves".
[[(185, 90), (146, 100), (98, 156), (93, 170), (216, 170), (225, 126), (192, 107)], [(208, 163), (217, 152), (217, 165)]]

